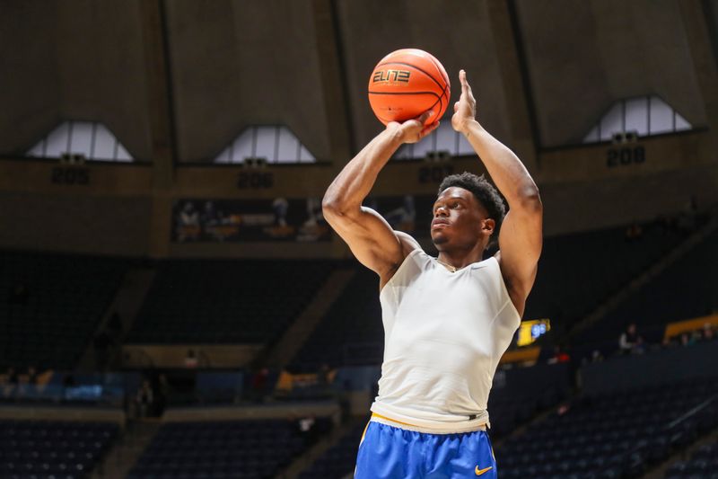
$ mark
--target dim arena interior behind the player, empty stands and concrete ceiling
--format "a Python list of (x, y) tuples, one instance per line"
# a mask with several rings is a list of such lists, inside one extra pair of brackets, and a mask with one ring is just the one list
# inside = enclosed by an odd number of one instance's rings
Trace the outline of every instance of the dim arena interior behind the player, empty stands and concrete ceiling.
[[(321, 198), (406, 47), (544, 205), (499, 476), (718, 477), (716, 0), (2, 0), (0, 476), (352, 477), (378, 279)], [(427, 252), (450, 115), (367, 200)]]

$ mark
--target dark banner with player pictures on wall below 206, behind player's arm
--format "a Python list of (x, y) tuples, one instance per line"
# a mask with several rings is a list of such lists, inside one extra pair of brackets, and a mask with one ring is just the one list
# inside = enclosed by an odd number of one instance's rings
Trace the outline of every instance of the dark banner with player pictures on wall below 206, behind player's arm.
[[(364, 206), (378, 211), (390, 226), (415, 237), (430, 233), (433, 195), (370, 197)], [(319, 198), (273, 200), (181, 199), (172, 208), (172, 242), (317, 242), (331, 228)]]

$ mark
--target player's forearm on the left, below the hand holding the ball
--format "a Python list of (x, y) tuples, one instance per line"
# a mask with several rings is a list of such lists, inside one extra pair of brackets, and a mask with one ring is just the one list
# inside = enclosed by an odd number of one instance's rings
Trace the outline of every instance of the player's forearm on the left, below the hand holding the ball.
[(322, 208), (345, 212), (358, 210), (372, 191), (381, 168), (401, 146), (399, 129), (385, 129), (374, 137), (337, 175), (322, 200)]

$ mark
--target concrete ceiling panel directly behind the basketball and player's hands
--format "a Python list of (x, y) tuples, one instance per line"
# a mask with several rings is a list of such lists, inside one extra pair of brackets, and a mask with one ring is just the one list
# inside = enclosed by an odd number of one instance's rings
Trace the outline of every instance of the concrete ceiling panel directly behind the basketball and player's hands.
[(372, 69), (385, 55), (402, 48), (424, 49), (446, 68), (451, 102), (443, 121), (450, 121), (453, 102), (459, 100), (459, 70), (464, 68), (477, 96), (479, 119), (506, 140), (504, 92), (485, 1), (338, 0), (337, 7), (357, 147), (383, 128), (367, 99)]

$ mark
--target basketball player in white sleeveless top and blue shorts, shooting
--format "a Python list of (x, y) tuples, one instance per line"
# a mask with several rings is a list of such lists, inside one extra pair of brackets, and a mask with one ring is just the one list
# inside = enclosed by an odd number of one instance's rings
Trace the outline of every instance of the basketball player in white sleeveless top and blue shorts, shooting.
[[(476, 120), (463, 70), (459, 79), (451, 126), (483, 161), (508, 213), (483, 176), (446, 177), (433, 205), (433, 258), (362, 206), (398, 146), (438, 126), (423, 126), (430, 113), (387, 125), (346, 164), (322, 203), (328, 223), (380, 278), (384, 362), (358, 479), (496, 477), (486, 404), (536, 278), (542, 206), (519, 158)], [(500, 251), (482, 261), (496, 236)]]

